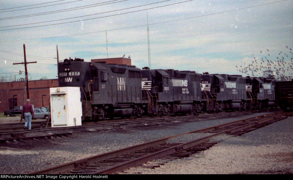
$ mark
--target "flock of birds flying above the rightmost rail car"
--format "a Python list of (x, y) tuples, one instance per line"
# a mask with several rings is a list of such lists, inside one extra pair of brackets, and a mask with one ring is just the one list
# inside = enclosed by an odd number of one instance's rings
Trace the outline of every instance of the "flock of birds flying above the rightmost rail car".
[(260, 55), (255, 57), (250, 63), (236, 66), (240, 73), (251, 77), (263, 76), (265, 71), (275, 71), (276, 78), (282, 80), (285, 76), (293, 76), (293, 51), (292, 48), (285, 46), (285, 51), (275, 53), (266, 49), (260, 50)]

